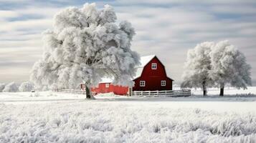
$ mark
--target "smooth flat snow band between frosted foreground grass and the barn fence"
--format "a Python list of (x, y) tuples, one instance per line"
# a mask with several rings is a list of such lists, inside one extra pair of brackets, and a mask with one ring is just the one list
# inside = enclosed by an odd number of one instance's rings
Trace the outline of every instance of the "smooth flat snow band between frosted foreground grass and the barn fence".
[[(35, 93), (17, 92), (17, 93), (0, 93), (0, 104), (47, 104), (47, 103), (68, 103), (68, 102), (85, 102), (85, 95), (65, 94), (56, 92), (40, 92), (37, 96)], [(98, 103), (112, 102), (131, 104), (150, 105), (153, 107), (165, 107), (170, 109), (204, 109), (214, 112), (256, 112), (256, 97), (174, 97), (174, 98), (136, 98), (136, 97), (97, 97), (94, 101)]]

